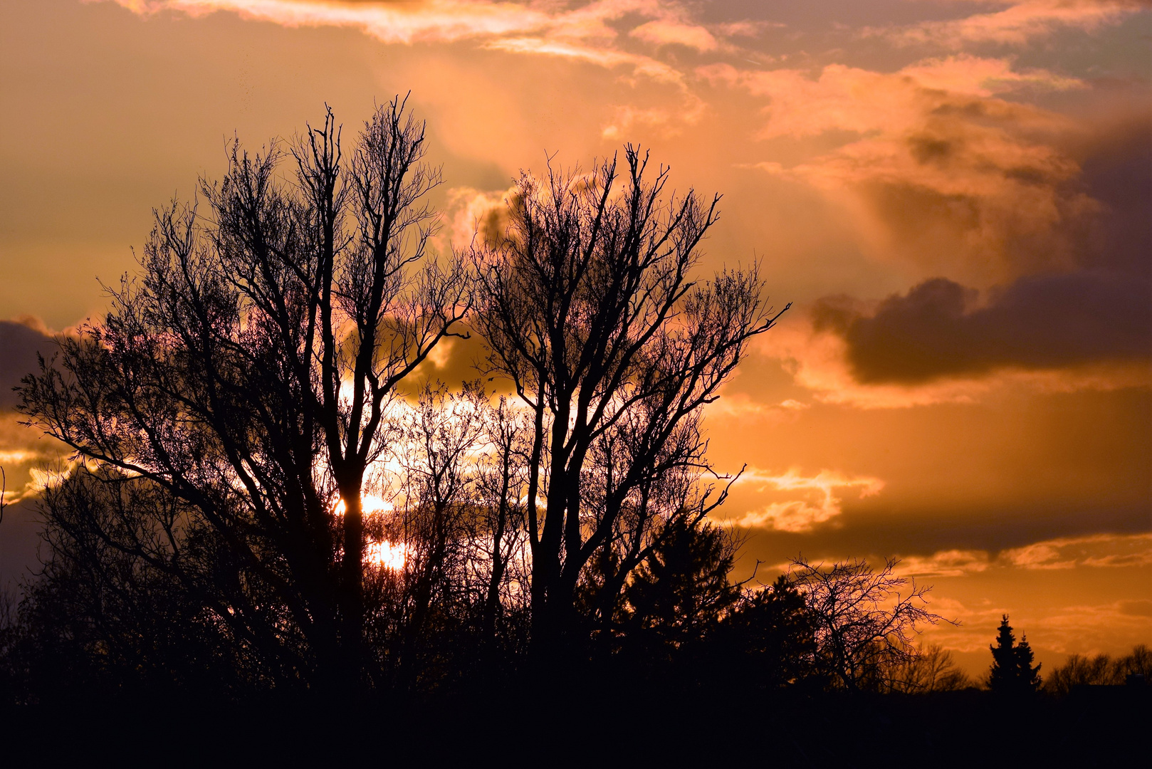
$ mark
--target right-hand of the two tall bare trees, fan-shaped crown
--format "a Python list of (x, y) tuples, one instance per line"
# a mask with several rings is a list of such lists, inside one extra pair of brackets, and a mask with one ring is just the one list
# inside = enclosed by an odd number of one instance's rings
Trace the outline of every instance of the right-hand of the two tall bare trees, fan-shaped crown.
[[(532, 415), (526, 510), (540, 647), (575, 626), (576, 588), (598, 551), (617, 548), (620, 571), (606, 583), (619, 591), (667, 514), (699, 521), (717, 503), (692, 491), (711, 472), (700, 407), (780, 315), (765, 307), (755, 266), (696, 282), (719, 197), (666, 195), (668, 169), (650, 171), (632, 146), (624, 161), (622, 174), (615, 158), (588, 174), (522, 174), (507, 228), (473, 249), (472, 325), (490, 374), (510, 379)], [(654, 504), (661, 497), (668, 505)]]

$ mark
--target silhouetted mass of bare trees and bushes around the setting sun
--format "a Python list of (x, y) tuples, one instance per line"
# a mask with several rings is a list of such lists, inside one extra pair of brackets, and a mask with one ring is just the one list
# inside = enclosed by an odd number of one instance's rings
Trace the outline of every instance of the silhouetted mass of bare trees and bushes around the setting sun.
[[(780, 312), (755, 264), (697, 274), (719, 197), (628, 146), (521, 175), (438, 252), (425, 151), (400, 100), (350, 146), (331, 112), (234, 145), (24, 380), (75, 454), (5, 620), (6, 702), (607, 687), (596, 718), (609, 691), (969, 685), (915, 643), (940, 618), (893, 561), (733, 582), (702, 407)], [(422, 374), (452, 338), (483, 349), (458, 391)]]

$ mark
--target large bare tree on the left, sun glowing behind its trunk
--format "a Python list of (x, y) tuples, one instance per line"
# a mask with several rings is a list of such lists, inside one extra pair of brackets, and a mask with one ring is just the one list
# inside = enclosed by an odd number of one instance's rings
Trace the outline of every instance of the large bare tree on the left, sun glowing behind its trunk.
[(291, 148), (288, 178), (278, 144), (234, 145), (225, 178), (202, 184), (207, 214), (157, 213), (138, 278), (25, 379), (23, 410), (179, 508), (149, 519), (158, 540), (96, 536), (209, 596), (210, 564), (194, 567), (187, 548), (203, 533), (229, 579), (283, 608), (265, 617), (267, 601), (237, 597), (221, 621), (252, 639), (287, 624), (306, 677), (358, 686), (365, 477), (388, 447), (397, 384), (456, 333), (468, 286), (458, 261), (429, 254), (440, 174), (404, 101), (376, 112), (350, 158), (340, 135), (329, 111)]

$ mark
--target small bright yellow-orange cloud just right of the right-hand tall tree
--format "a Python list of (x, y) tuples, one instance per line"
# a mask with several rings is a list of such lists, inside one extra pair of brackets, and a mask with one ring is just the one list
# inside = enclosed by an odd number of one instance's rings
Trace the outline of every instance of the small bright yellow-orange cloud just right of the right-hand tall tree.
[(733, 521), (737, 526), (770, 528), (778, 531), (811, 531), (819, 523), (841, 513), (842, 489), (856, 489), (861, 497), (871, 497), (884, 489), (884, 481), (867, 476), (849, 476), (835, 470), (820, 470), (813, 476), (791, 468), (782, 475), (751, 469), (740, 477), (742, 484), (756, 484), (760, 495), (783, 497)]

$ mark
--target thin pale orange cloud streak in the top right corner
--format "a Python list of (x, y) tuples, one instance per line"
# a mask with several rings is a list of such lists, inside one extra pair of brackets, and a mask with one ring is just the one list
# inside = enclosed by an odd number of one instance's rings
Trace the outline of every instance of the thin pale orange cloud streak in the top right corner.
[(1024, 0), (1007, 5), (991, 13), (907, 27), (871, 28), (864, 33), (896, 43), (947, 48), (987, 43), (1024, 46), (1063, 29), (1094, 32), (1150, 6), (1147, 0)]

